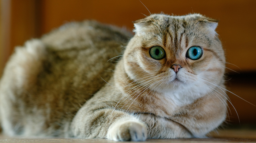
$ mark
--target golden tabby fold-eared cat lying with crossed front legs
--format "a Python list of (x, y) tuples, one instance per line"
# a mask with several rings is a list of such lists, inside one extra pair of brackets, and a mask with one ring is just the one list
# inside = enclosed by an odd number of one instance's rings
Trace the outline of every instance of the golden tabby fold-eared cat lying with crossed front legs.
[(204, 138), (226, 118), (218, 21), (154, 14), (132, 33), (74, 22), (16, 47), (0, 82), (3, 132), (145, 141)]

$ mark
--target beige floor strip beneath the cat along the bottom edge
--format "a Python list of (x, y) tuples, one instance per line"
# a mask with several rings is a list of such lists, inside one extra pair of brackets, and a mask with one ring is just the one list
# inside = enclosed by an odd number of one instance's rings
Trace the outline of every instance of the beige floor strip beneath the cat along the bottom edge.
[[(210, 138), (207, 139), (148, 139), (150, 143), (227, 143), (227, 142), (255, 142), (256, 143), (256, 128), (230, 128), (211, 132)], [(116, 143), (107, 139), (61, 139), (61, 138), (46, 138), (46, 139), (24, 139), (11, 138), (0, 135), (0, 142), (15, 142), (15, 143)]]

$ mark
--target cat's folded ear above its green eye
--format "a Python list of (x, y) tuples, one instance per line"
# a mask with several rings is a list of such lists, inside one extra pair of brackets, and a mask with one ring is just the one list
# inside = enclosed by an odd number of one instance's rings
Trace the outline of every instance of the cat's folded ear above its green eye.
[(147, 29), (149, 28), (148, 26), (150, 25), (150, 23), (151, 23), (151, 19), (149, 19), (148, 17), (133, 21), (133, 24), (134, 24), (133, 32), (138, 35), (144, 35)]

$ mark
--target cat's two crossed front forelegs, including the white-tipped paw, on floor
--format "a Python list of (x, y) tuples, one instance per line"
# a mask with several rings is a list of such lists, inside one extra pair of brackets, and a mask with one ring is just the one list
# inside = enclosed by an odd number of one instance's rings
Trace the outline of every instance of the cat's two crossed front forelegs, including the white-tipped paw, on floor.
[(79, 138), (108, 138), (116, 141), (144, 141), (147, 138), (191, 138), (181, 124), (153, 114), (128, 114), (113, 109), (86, 111), (83, 107), (71, 124)]

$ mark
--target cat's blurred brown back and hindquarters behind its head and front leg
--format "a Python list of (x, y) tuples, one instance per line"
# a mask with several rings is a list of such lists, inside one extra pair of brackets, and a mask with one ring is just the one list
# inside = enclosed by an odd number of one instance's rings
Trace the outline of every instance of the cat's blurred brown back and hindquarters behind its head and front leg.
[[(117, 27), (83, 21), (65, 24), (16, 47), (0, 82), (5, 131), (10, 135), (26, 133), (26, 122), (31, 128), (33, 122), (42, 122), (42, 130), (64, 124), (60, 119), (70, 121), (78, 106), (110, 79), (116, 59), (109, 59), (122, 55), (131, 36)], [(8, 131), (14, 125), (17, 130)]]

